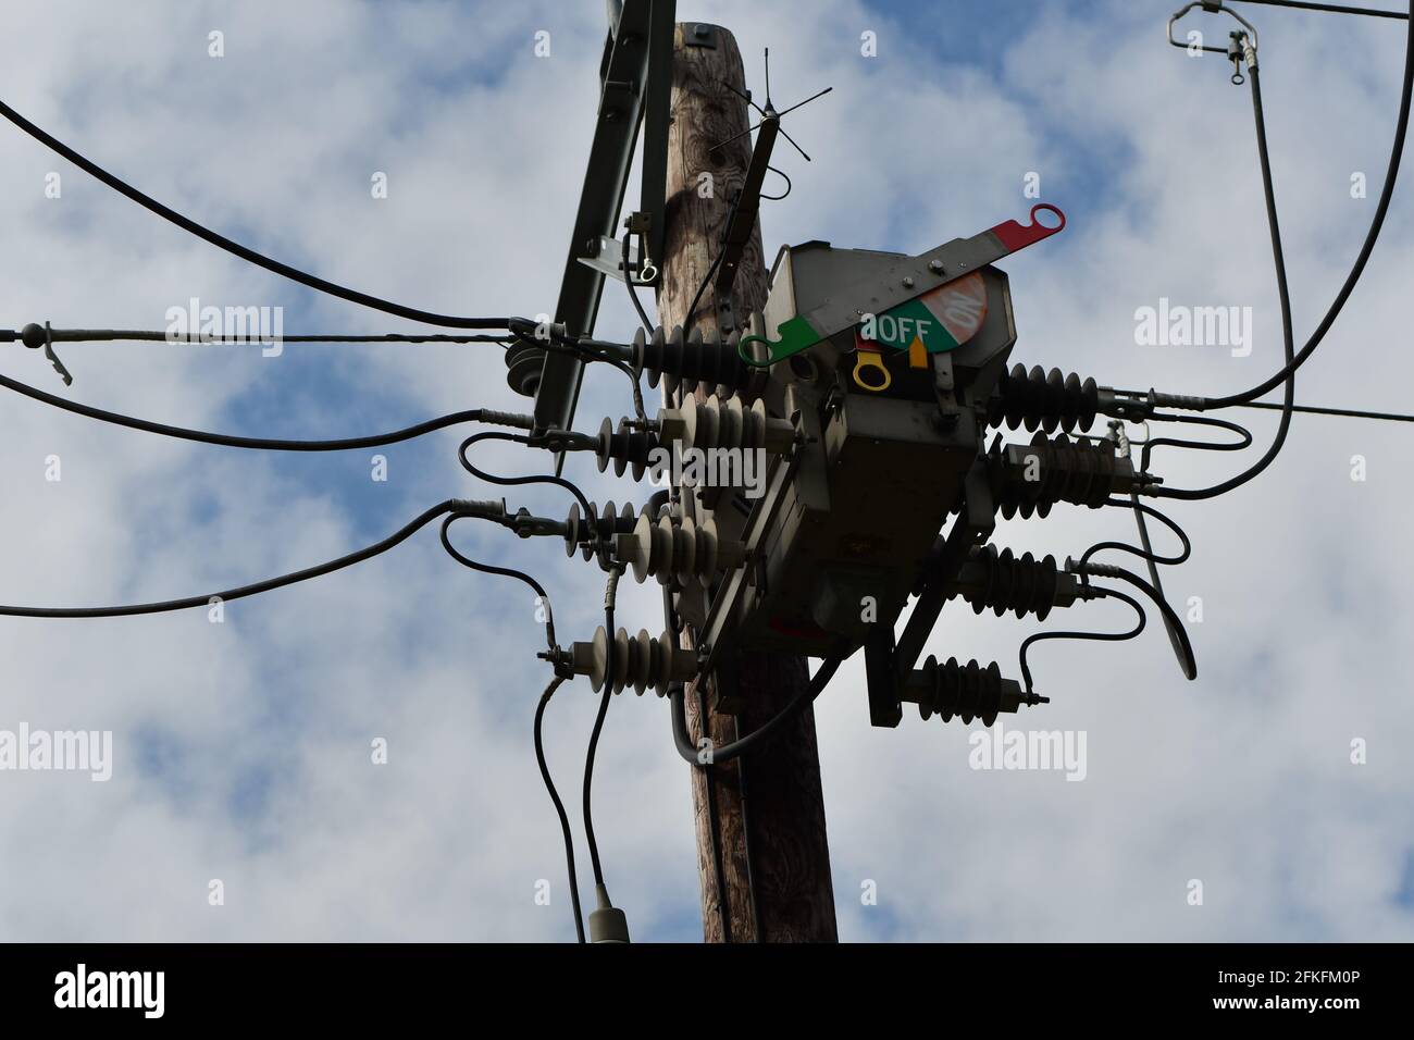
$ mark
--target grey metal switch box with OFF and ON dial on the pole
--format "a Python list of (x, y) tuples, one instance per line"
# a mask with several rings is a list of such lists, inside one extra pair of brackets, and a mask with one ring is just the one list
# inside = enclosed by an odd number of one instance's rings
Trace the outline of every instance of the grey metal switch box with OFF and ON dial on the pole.
[(766, 328), (826, 301), (860, 324), (772, 368), (768, 405), (810, 439), (734, 611), (742, 649), (826, 657), (892, 625), (981, 454), (1017, 338), (1007, 276), (980, 267), (874, 314), (860, 286), (906, 259), (807, 242), (772, 269)]

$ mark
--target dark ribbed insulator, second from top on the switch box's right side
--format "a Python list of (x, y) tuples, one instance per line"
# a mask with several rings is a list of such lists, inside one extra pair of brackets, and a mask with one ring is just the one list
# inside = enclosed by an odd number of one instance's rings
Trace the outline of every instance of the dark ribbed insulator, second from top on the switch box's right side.
[(1113, 441), (1053, 439), (1038, 433), (1029, 446), (1008, 444), (993, 458), (993, 495), (1003, 516), (1046, 516), (1056, 502), (1097, 509), (1110, 495), (1128, 494), (1134, 467)]

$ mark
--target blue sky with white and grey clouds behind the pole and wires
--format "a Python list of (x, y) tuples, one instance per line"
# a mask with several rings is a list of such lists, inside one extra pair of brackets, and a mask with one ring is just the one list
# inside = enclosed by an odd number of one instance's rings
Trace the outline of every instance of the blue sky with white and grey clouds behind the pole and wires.
[[(788, 242), (921, 252), (1029, 201), (1056, 239), (1007, 262), (1012, 357), (1114, 386), (1217, 395), (1280, 364), (1280, 324), (1246, 89), (1219, 57), (1162, 40), (1176, 0), (700, 0), (790, 116)], [(1384, 6), (1398, 6), (1384, 0)], [(1263, 82), (1298, 340), (1365, 235), (1389, 156), (1403, 27), (1241, 6)], [(1213, 16), (1191, 16), (1226, 40)], [(148, 194), (324, 277), (461, 314), (553, 307), (597, 106), (604, 4), (7, 4), (0, 98)], [(537, 58), (537, 31), (550, 55)], [(209, 55), (221, 31), (225, 57)], [(877, 57), (861, 54), (874, 33)], [(61, 194), (47, 185), (59, 174)], [(385, 173), (387, 198), (370, 178)], [(1363, 173), (1369, 197), (1352, 197)], [(632, 194), (632, 192), (631, 192)], [(1414, 205), (1396, 197), (1363, 283), (1301, 372), (1308, 403), (1408, 410), (1403, 334)], [(191, 297), (280, 306), (286, 333), (406, 325), (321, 299), (163, 224), (0, 126), (0, 325), (161, 328)], [(598, 333), (633, 321), (608, 293)], [(1254, 348), (1144, 347), (1134, 313), (1250, 306)], [(523, 410), (495, 347), (259, 349), (71, 345), (64, 389), (37, 352), (7, 375), (76, 400), (229, 433), (341, 437), (471, 406)], [(581, 429), (628, 409), (592, 372)], [(1251, 419), (1258, 444), (1268, 415)], [(164, 441), (7, 395), (0, 600), (89, 606), (206, 593), (324, 560), (447, 497), (489, 497), (450, 432), (383, 451), (280, 457)], [(1086, 733), (1087, 775), (969, 768), (967, 727), (868, 726), (861, 664), (817, 705), (846, 940), (1414, 938), (1408, 427), (1299, 417), (1277, 464), (1210, 502), (1176, 504), (1192, 560), (1169, 572), (1199, 678), (1158, 625), (1120, 645), (1042, 644), (1052, 703), (1017, 720)], [(59, 480), (54, 474), (54, 457)], [(1352, 480), (1355, 457), (1365, 480)], [(508, 471), (542, 466), (488, 451)], [(1232, 456), (1158, 453), (1202, 487)], [(591, 495), (645, 492), (570, 475)], [(509, 495), (546, 515), (553, 490)], [(1127, 536), (1123, 512), (1058, 509), (997, 542), (1079, 555)], [(561, 641), (598, 623), (601, 576), (557, 545), (457, 529), (465, 552), (530, 567)], [(621, 617), (660, 627), (655, 589)], [(1077, 607), (1068, 627), (1118, 628)], [(929, 652), (1017, 674), (1032, 623), (953, 604)], [(0, 730), (112, 730), (113, 775), (0, 773), (7, 940), (573, 938), (560, 832), (530, 722), (546, 681), (527, 590), (465, 570), (436, 531), (354, 570), (205, 611), (0, 620)], [(578, 784), (595, 698), (561, 689), (547, 751)], [(1012, 722), (1007, 716), (1004, 722)], [(385, 739), (386, 765), (370, 761)], [(1367, 747), (1352, 763), (1352, 741)], [(667, 707), (614, 703), (595, 771), (605, 870), (635, 938), (700, 937), (689, 775)], [(577, 798), (567, 801), (577, 802)], [(578, 832), (577, 814), (575, 818)], [(580, 832), (581, 833), (581, 832)], [(580, 842), (583, 850), (583, 840)], [(581, 852), (581, 870), (587, 856)], [(583, 874), (581, 874), (583, 877)], [(211, 906), (212, 880), (223, 906)], [(536, 904), (540, 879), (551, 904)], [(1202, 906), (1189, 883), (1200, 880)], [(875, 906), (861, 900), (867, 882)]]

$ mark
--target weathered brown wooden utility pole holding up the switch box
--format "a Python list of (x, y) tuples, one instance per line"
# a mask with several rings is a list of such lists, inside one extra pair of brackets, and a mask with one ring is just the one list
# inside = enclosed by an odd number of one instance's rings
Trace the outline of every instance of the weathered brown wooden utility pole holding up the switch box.
[[(673, 40), (673, 122), (667, 139), (666, 242), (659, 318), (684, 324), (699, 284), (717, 256), (731, 208), (751, 157), (741, 52), (718, 25), (679, 24)], [(730, 137), (731, 144), (713, 146)], [(703, 177), (704, 174), (710, 177)], [(759, 310), (766, 301), (761, 228), (737, 269), (727, 321)], [(721, 327), (724, 301), (708, 287), (694, 327)], [(684, 632), (684, 638), (690, 634)], [(711, 712), (711, 676), (704, 699), (707, 734), (714, 744), (745, 736), (773, 717), (809, 682), (805, 658), (748, 655), (731, 674), (745, 703), (740, 716)], [(697, 691), (686, 696), (693, 739), (701, 730)], [(820, 756), (814, 713), (807, 707), (768, 744), (737, 761), (694, 767), (693, 812), (701, 880), (703, 934), (707, 942), (833, 942), (834, 891), (820, 791)], [(749, 856), (748, 856), (749, 850)], [(720, 867), (718, 867), (720, 865)], [(720, 873), (718, 873), (720, 869)], [(720, 893), (725, 891), (725, 913)]]

